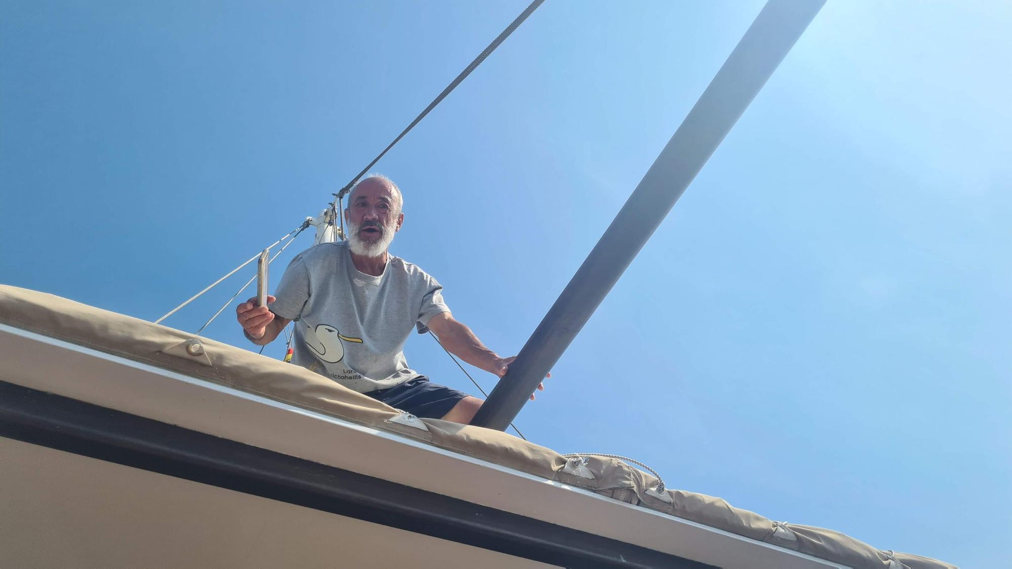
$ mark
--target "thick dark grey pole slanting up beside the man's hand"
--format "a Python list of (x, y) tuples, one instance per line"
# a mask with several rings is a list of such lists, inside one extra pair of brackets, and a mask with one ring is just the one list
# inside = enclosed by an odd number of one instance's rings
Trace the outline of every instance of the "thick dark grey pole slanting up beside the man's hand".
[(766, 3), (472, 424), (504, 430), (516, 417), (824, 3)]

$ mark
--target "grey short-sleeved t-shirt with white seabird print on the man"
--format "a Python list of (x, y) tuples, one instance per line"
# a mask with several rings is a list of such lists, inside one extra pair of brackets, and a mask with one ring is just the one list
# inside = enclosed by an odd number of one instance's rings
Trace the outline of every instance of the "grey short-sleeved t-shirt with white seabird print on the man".
[(449, 312), (442, 287), (417, 266), (391, 255), (380, 276), (359, 272), (346, 242), (303, 251), (274, 291), (274, 314), (296, 320), (292, 363), (366, 393), (418, 376), (404, 342), (417, 325)]

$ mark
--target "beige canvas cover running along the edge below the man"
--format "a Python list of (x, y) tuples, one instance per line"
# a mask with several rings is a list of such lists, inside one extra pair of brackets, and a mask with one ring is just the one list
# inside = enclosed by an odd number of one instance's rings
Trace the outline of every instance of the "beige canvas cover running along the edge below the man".
[[(502, 431), (437, 419), (421, 419), (428, 426), (427, 431), (391, 422), (400, 415), (396, 409), (309, 370), (57, 296), (0, 286), (0, 323), (398, 432), (843, 565), (954, 569), (953, 565), (934, 559), (879, 551), (832, 530), (772, 521), (713, 496), (671, 489), (658, 492), (657, 478), (617, 459), (596, 456), (568, 459)], [(194, 343), (199, 343), (200, 349), (187, 349)]]

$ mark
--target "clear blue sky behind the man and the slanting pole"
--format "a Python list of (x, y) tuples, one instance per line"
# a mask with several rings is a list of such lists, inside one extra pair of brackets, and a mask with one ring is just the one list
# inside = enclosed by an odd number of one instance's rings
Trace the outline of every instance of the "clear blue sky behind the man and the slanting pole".
[[(0, 0), (0, 281), (158, 318), (318, 214), (525, 5)], [(761, 5), (549, 0), (376, 167), (393, 252), (515, 353)], [(1007, 563), (1010, 28), (1002, 2), (831, 0), (521, 430)], [(232, 314), (206, 335), (250, 347)], [(430, 338), (407, 355), (474, 391)]]

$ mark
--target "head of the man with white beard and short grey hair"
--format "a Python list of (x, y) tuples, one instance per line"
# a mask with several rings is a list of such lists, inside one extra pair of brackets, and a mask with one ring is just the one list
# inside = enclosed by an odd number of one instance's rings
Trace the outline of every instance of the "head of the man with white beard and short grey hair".
[(404, 221), (398, 201), (387, 180), (367, 178), (355, 187), (344, 211), (351, 252), (377, 257), (387, 251)]

